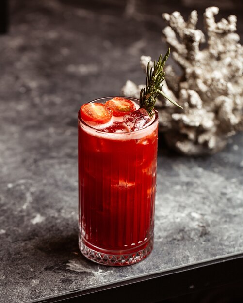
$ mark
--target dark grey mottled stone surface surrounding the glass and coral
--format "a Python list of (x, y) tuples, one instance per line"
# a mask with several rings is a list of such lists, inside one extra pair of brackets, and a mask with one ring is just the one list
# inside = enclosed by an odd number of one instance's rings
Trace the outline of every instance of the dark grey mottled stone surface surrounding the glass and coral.
[[(79, 252), (77, 111), (83, 102), (119, 94), (128, 78), (144, 82), (140, 55), (156, 59), (166, 50), (161, 13), (195, 8), (189, 0), (184, 8), (160, 2), (135, 8), (132, 0), (11, 2), (10, 33), (0, 36), (1, 302), (243, 251), (239, 134), (207, 158), (178, 156), (160, 138), (155, 247), (146, 260), (109, 268)], [(242, 14), (240, 2), (238, 10), (226, 7), (221, 15)]]

